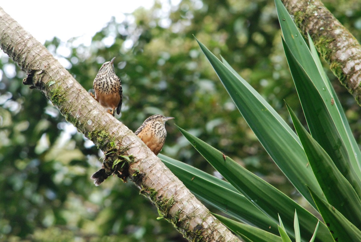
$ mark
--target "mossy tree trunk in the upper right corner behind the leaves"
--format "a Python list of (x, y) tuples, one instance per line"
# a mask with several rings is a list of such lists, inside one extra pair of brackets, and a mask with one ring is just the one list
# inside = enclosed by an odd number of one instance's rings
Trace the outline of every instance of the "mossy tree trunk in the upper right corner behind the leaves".
[(282, 0), (304, 36), (314, 45), (330, 69), (361, 105), (361, 46), (320, 0)]

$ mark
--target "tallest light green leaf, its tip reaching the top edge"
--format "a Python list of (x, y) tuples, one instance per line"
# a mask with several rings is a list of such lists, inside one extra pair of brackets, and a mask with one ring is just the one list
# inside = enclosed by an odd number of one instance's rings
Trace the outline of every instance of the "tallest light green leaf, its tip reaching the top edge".
[[(323, 74), (322, 75), (320, 74), (320, 72), (323, 72), (323, 70), (318, 68), (317, 62), (315, 63), (313, 61), (314, 59), (316, 59), (314, 58), (316, 56), (314, 55), (312, 56), (305, 40), (303, 39), (301, 33), (297, 29), (297, 26), (293, 22), (290, 14), (287, 12), (287, 9), (284, 7), (284, 5), (280, 0), (275, 0), (275, 5), (277, 8), (277, 14), (283, 33), (283, 38), (286, 41), (289, 48), (292, 50), (293, 55), (300, 63), (300, 65), (303, 67), (305, 72), (309, 75), (312, 81), (322, 80), (322, 81), (315, 81), (314, 85), (316, 86), (317, 90), (320, 92), (320, 95), (324, 103), (326, 104), (327, 109), (329, 109), (332, 120), (335, 122), (335, 125), (345, 144), (345, 147), (347, 148), (348, 154), (350, 155), (350, 161), (352, 167), (355, 169), (357, 176), (361, 177), (361, 170), (360, 170), (361, 152), (357, 148), (358, 147), (357, 143), (355, 141), (355, 138), (352, 136), (351, 129), (349, 128), (347, 119), (339, 103), (339, 100), (335, 94), (335, 91), (331, 87), (329, 80), (327, 78), (326, 79), (322, 78), (322, 76), (325, 76)], [(307, 118), (310, 119), (307, 113), (305, 113), (305, 116), (306, 119)], [(313, 133), (313, 130), (311, 130), (311, 133)]]

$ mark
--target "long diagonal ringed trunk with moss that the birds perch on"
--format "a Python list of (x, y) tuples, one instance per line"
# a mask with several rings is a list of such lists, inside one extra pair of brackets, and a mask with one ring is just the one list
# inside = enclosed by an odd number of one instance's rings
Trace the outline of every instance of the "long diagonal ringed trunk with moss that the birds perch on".
[[(66, 120), (103, 151), (132, 155), (129, 178), (175, 228), (192, 241), (238, 241), (125, 125), (100, 104), (31, 34), (0, 8), (0, 46), (28, 73), (24, 83), (40, 90)], [(89, 182), (92, 182), (89, 180)]]

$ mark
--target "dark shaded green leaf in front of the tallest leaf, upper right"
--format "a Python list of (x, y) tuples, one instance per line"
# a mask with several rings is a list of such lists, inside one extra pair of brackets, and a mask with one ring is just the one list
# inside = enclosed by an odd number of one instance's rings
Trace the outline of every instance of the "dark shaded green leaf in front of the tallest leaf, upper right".
[[(327, 152), (331, 157), (331, 160), (334, 161), (336, 167), (356, 190), (356, 193), (361, 194), (360, 178), (357, 176), (350, 163), (347, 149), (331, 118), (326, 104), (323, 102), (319, 91), (316, 89), (305, 70), (295, 59), (295, 56), (288, 45), (284, 40), (282, 40), (282, 42), (312, 138), (314, 138)], [(322, 82), (322, 80), (320, 81)], [(333, 108), (336, 109), (335, 106)], [(350, 155), (353, 156), (353, 153)], [(319, 173), (314, 174), (316, 177), (319, 176)], [(327, 177), (317, 177), (317, 180), (326, 178)]]

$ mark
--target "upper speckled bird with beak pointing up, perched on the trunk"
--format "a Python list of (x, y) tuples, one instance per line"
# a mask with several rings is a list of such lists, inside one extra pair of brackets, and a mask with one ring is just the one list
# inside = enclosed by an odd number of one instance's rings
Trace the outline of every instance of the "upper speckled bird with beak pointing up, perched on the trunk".
[(93, 83), (94, 95), (90, 93), (113, 116), (115, 109), (120, 113), (123, 98), (122, 83), (114, 72), (114, 59), (101, 66)]

